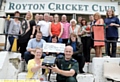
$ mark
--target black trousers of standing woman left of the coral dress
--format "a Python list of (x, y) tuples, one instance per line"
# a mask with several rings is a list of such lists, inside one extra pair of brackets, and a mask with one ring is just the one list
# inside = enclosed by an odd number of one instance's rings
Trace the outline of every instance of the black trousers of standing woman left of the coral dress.
[(81, 37), (85, 62), (90, 62), (91, 37)]

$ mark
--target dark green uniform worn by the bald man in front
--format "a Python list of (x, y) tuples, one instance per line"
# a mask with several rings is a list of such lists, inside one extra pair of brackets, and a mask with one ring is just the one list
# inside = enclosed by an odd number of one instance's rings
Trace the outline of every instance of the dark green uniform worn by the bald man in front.
[[(76, 78), (76, 75), (78, 73), (78, 62), (77, 60), (71, 58), (69, 61), (66, 61), (64, 57), (59, 58), (56, 62), (57, 66), (59, 69), (61, 70), (66, 70), (69, 71), (71, 69), (75, 70), (75, 74), (73, 75), (73, 77)], [(68, 78), (67, 76), (63, 76), (60, 74), (57, 74), (57, 80), (66, 80), (66, 78)]]

